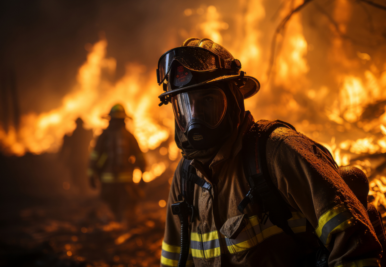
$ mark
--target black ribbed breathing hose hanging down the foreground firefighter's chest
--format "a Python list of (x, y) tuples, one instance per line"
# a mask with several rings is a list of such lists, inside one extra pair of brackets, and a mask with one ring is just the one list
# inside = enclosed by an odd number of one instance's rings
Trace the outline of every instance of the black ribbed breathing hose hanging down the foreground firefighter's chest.
[(173, 215), (178, 215), (181, 222), (181, 248), (179, 251), (178, 267), (185, 267), (189, 255), (189, 220), (188, 203), (178, 201), (171, 205)]

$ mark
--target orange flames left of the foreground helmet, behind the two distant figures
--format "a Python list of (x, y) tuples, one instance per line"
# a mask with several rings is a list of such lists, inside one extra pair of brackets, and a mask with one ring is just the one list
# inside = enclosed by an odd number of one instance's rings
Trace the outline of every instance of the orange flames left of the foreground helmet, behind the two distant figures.
[[(106, 58), (106, 50), (105, 39), (92, 46), (86, 62), (78, 71), (77, 85), (64, 96), (59, 108), (39, 115), (24, 115), (19, 132), (14, 128), (7, 133), (0, 131), (0, 140), (8, 152), (17, 155), (56, 152), (63, 136), (75, 129), (74, 121), (78, 117), (83, 119), (85, 128), (91, 128), (95, 135), (99, 135), (108, 125), (102, 117), (115, 103), (121, 103), (133, 118), (132, 128), (127, 127), (143, 152), (157, 148), (168, 139), (170, 129), (159, 123), (168, 113), (156, 113), (159, 88), (154, 81), (145, 78), (145, 67), (127, 65), (125, 76), (112, 84), (102, 75), (105, 70), (114, 73), (116, 65), (115, 59)], [(155, 114), (161, 115), (157, 117)]]

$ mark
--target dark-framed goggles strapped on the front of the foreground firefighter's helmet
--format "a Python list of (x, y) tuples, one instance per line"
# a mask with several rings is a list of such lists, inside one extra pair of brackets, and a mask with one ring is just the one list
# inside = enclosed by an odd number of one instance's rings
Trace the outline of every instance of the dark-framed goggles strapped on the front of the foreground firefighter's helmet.
[(234, 59), (223, 59), (217, 54), (194, 46), (180, 46), (163, 54), (158, 61), (157, 82), (161, 85), (170, 72), (171, 64), (177, 60), (185, 68), (193, 71), (210, 71), (212, 69), (231, 69)]

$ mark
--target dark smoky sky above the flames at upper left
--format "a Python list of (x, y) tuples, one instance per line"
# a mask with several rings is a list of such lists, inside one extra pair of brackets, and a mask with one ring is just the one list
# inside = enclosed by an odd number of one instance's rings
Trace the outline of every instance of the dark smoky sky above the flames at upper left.
[(182, 42), (176, 32), (186, 23), (183, 10), (199, 6), (171, 0), (2, 1), (0, 66), (15, 70), (21, 113), (48, 111), (76, 83), (85, 44), (98, 41), (101, 31), (120, 78), (127, 62), (155, 69), (159, 56)]

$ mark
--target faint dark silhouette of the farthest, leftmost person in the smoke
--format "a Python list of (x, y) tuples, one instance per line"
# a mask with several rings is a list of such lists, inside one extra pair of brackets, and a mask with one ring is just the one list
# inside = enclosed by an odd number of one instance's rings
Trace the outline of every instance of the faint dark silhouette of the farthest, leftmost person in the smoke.
[(83, 120), (76, 120), (76, 128), (72, 135), (65, 135), (59, 157), (68, 167), (71, 176), (71, 186), (84, 194), (87, 186), (87, 164), (92, 130), (83, 128)]

